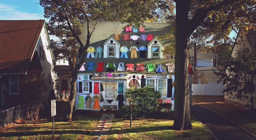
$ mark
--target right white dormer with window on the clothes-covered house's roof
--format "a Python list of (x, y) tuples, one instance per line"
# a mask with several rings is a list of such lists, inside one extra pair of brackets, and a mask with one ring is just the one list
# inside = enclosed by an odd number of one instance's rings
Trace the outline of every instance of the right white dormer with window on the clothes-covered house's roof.
[(148, 43), (148, 58), (163, 58), (163, 42), (159, 40), (157, 36), (155, 36)]

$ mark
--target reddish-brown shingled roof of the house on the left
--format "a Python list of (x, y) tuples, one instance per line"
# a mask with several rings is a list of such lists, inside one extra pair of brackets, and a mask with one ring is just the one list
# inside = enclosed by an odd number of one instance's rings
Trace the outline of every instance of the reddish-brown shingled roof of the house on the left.
[(0, 73), (26, 72), (45, 20), (0, 20)]

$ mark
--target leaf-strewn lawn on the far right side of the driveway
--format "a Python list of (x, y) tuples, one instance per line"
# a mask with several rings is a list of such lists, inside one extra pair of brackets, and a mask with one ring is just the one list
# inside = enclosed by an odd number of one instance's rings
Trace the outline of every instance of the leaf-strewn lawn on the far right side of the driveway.
[(225, 104), (224, 96), (192, 96), (192, 102), (221, 114), (256, 135), (255, 111), (251, 112), (238, 106)]

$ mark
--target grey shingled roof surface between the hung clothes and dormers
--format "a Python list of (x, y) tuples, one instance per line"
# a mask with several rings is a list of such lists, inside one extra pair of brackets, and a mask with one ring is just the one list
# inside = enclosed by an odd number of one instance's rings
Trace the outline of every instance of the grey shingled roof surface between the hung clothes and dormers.
[[(90, 22), (90, 27), (93, 27), (95, 23), (96, 22)], [(130, 35), (138, 35), (138, 36), (140, 36), (141, 34), (146, 34), (146, 35), (153, 34), (154, 37), (155, 36), (159, 37), (159, 36), (165, 35), (167, 33), (170, 33), (171, 28), (173, 27), (169, 23), (144, 23), (146, 32), (144, 32), (144, 33), (140, 33), (140, 32), (139, 33), (126, 33), (124, 31), (124, 27), (126, 25), (127, 25), (126, 23), (121, 23), (121, 22), (98, 22), (97, 25), (95, 26), (96, 28), (90, 38), (90, 45), (92, 45), (95, 48), (98, 46), (101, 46), (103, 48), (103, 43), (109, 38), (109, 36), (113, 35), (114, 33), (130, 34)], [(118, 41), (120, 43), (120, 47), (125, 45), (128, 47), (128, 49), (133, 45), (135, 45), (137, 48), (139, 48), (139, 46), (147, 45), (150, 42), (150, 41), (141, 41), (139, 39), (138, 39), (138, 41), (122, 41), (122, 39), (123, 39), (123, 37), (120, 37), (120, 40)], [(84, 44), (86, 43), (86, 40), (87, 40), (87, 25), (86, 24), (83, 26), (81, 40)], [(172, 43), (172, 41), (168, 40), (168, 39), (162, 39), (161, 41), (164, 43), (164, 46), (170, 45)], [(140, 42), (140, 44), (137, 45), (136, 42)], [(124, 64), (133, 63), (134, 65), (136, 65), (136, 63), (143, 63), (144, 65), (146, 65), (148, 63), (153, 63), (155, 65), (158, 63), (161, 63), (163, 65), (164, 70), (166, 70), (166, 71), (168, 71), (168, 68), (164, 64), (174, 63), (174, 59), (140, 58), (140, 52), (137, 52), (138, 58), (136, 58), (136, 59), (130, 58), (130, 52), (128, 52), (127, 54), (128, 54), (128, 59), (103, 58), (103, 54), (102, 54), (101, 59), (99, 59), (99, 58), (86, 59), (86, 63), (87, 62), (95, 63), (95, 66), (93, 66), (94, 69), (93, 69), (93, 71), (80, 71), (80, 72), (86, 72), (86, 73), (96, 72), (96, 68), (97, 68), (96, 63), (97, 62), (105, 63), (103, 65), (104, 72), (106, 72), (106, 65), (110, 62), (113, 62), (117, 67), (118, 67), (119, 62), (123, 62)], [(120, 55), (121, 55), (121, 53), (120, 53)], [(147, 57), (147, 55), (146, 55), (146, 57)], [(79, 59), (78, 59), (78, 61), (79, 61)], [(125, 66), (125, 68), (126, 68), (126, 66)], [(136, 70), (136, 66), (134, 66), (134, 69)], [(116, 70), (117, 70), (117, 68), (115, 69), (115, 71)], [(136, 72), (136, 73), (155, 73), (155, 72), (147, 72), (147, 69), (145, 67), (144, 67), (144, 71), (129, 71), (129, 73), (134, 73), (134, 72)]]

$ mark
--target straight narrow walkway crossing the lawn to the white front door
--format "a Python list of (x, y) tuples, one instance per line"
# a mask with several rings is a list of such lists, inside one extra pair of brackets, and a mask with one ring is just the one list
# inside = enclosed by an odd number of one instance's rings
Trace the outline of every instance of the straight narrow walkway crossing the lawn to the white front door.
[[(107, 140), (114, 113), (102, 114), (92, 140)], [(99, 137), (100, 136), (100, 137)]]

